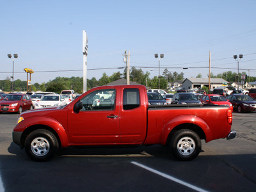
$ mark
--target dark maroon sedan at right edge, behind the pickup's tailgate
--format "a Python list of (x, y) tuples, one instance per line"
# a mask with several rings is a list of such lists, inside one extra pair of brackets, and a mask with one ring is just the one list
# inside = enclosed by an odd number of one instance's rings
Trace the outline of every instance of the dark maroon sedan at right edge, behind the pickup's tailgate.
[(256, 100), (248, 95), (232, 94), (228, 95), (227, 100), (238, 113), (256, 111)]

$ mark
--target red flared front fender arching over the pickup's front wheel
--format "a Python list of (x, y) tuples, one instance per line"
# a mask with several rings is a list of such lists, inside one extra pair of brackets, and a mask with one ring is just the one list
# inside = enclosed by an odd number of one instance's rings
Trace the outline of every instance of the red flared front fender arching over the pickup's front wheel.
[[(36, 129), (42, 128), (42, 126), (49, 127), (58, 134), (58, 137), (61, 141), (61, 147), (68, 147), (68, 138), (67, 133), (65, 132), (65, 128), (60, 124), (56, 119), (51, 118), (49, 116), (40, 116), (40, 117), (27, 117), (22, 122), (16, 125), (13, 131), (23, 132), (23, 134), (28, 134)], [(22, 142), (21, 142), (22, 143)]]

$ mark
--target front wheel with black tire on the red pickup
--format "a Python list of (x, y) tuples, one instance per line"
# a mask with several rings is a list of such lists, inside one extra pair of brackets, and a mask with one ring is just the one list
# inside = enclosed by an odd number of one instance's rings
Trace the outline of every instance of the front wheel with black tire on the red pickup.
[(45, 129), (31, 132), (25, 140), (26, 154), (35, 161), (49, 161), (58, 152), (58, 148), (56, 136)]

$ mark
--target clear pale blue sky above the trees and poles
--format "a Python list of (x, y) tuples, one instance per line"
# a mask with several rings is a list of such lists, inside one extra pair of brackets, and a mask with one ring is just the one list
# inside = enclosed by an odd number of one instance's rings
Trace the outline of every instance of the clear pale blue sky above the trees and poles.
[[(184, 78), (231, 70), (256, 77), (255, 0), (54, 0), (0, 3), (0, 80), (12, 76), (31, 83), (55, 77), (83, 77), (83, 30), (88, 35), (87, 78), (130, 67), (158, 76), (183, 72)], [(7, 54), (18, 54), (13, 61)], [(183, 69), (188, 68), (188, 69)], [(225, 79), (225, 77), (223, 77)]]

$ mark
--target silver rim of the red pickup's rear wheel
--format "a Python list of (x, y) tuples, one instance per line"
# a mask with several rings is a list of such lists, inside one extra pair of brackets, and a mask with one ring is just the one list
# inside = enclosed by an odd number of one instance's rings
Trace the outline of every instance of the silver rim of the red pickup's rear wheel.
[(195, 141), (190, 137), (184, 137), (177, 143), (177, 149), (182, 156), (191, 155), (196, 147)]

